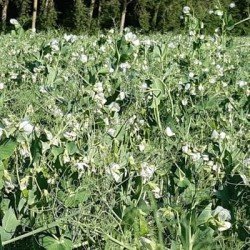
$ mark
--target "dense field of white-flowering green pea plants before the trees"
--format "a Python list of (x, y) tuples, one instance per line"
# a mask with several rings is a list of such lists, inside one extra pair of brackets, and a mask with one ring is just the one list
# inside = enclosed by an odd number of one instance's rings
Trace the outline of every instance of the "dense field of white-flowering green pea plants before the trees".
[(12, 23), (1, 249), (249, 249), (249, 37)]

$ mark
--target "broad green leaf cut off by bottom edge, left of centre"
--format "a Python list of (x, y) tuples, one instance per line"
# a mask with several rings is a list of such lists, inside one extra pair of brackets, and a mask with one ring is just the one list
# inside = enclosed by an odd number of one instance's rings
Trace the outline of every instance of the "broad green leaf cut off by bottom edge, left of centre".
[(73, 249), (73, 243), (69, 239), (61, 238), (55, 239), (50, 236), (46, 236), (42, 240), (42, 245), (46, 250), (71, 250)]

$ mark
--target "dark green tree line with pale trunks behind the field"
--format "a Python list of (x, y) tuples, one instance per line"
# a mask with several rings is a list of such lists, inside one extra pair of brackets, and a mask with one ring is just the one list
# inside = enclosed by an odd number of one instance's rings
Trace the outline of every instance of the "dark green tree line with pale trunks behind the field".
[(218, 27), (222, 10), (232, 23), (239, 23), (238, 35), (250, 33), (250, 0), (0, 0), (1, 29), (15, 18), (23, 28), (62, 28), (71, 32), (96, 32), (130, 26), (149, 31), (179, 31), (183, 28), (183, 7), (189, 6), (208, 32)]

